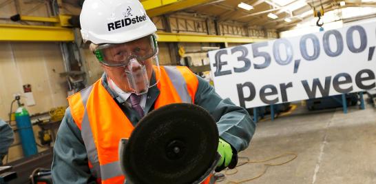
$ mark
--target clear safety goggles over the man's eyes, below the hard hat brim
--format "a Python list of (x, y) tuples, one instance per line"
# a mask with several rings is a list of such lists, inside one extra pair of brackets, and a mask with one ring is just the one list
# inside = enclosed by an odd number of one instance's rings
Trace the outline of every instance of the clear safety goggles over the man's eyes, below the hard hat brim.
[(132, 59), (144, 64), (144, 61), (158, 54), (156, 35), (152, 34), (126, 43), (99, 45), (94, 50), (94, 54), (101, 64), (109, 67), (126, 67)]

